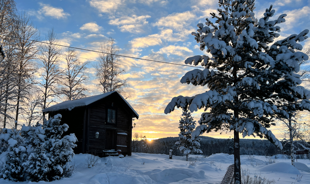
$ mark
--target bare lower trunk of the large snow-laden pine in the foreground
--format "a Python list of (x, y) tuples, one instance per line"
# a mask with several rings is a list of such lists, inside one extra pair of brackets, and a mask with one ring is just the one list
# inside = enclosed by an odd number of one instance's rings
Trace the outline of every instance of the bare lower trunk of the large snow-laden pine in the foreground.
[(235, 184), (241, 184), (241, 164), (240, 164), (240, 139), (239, 132), (234, 130), (234, 177)]

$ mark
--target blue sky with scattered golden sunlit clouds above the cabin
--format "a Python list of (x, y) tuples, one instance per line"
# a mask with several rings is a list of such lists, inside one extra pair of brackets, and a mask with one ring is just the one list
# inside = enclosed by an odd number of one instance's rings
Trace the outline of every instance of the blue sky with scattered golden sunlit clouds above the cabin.
[[(199, 50), (191, 32), (198, 23), (217, 13), (218, 0), (15, 0), (19, 12), (26, 11), (40, 31), (42, 40), (54, 28), (62, 45), (98, 50), (109, 37), (116, 41), (119, 54), (149, 60), (184, 64), (190, 56), (207, 55)], [(266, 8), (273, 5), (276, 10), (273, 19), (286, 13), (286, 22), (281, 23), (281, 36), (310, 28), (310, 0), (277, 0), (255, 2), (255, 17), (263, 17)], [(301, 43), (310, 46), (310, 39)], [(65, 49), (65, 48), (64, 48)], [(96, 60), (95, 52), (78, 50), (79, 56)], [(90, 61), (90, 79), (87, 88), (91, 94), (98, 94), (95, 69)], [(83, 61), (86, 61), (83, 59)], [(176, 137), (179, 133), (181, 110), (164, 114), (166, 105), (174, 96), (193, 96), (207, 91), (207, 87), (181, 84), (180, 79), (194, 68), (170, 65), (152, 61), (120, 58), (123, 75), (128, 78), (125, 89), (131, 96), (129, 103), (139, 114), (135, 119), (133, 134), (146, 135), (149, 139)], [(125, 66), (127, 65), (127, 66)], [(135, 67), (129, 67), (135, 66)], [(140, 68), (136, 68), (140, 67)], [(141, 69), (145, 68), (145, 69)], [(160, 70), (160, 71), (155, 71)], [(170, 72), (170, 73), (168, 73)], [(176, 74), (177, 73), (177, 74)], [(200, 119), (203, 110), (192, 113)], [(281, 138), (277, 127), (272, 132)], [(203, 134), (215, 138), (233, 137), (231, 132)], [(253, 137), (250, 137), (253, 138)]]

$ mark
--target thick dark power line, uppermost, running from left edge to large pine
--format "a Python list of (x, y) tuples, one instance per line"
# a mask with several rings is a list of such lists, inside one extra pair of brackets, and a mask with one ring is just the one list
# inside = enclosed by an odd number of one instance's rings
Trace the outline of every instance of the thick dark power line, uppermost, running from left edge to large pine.
[[(1, 36), (9, 36), (9, 35), (4, 35), (4, 34), (0, 34), (0, 35)], [(33, 41), (33, 42), (46, 43), (46, 42), (41, 42), (41, 41), (38, 41), (38, 40), (30, 40), (30, 39), (15, 37), (15, 36), (10, 36), (10, 37), (18, 38), (18, 39), (24, 39), (24, 40), (29, 40), (29, 41)], [(171, 64), (171, 65), (180, 65), (180, 66), (189, 66), (189, 67), (195, 67), (195, 68), (203, 68), (203, 67), (199, 67), (199, 66), (182, 65), (182, 64), (176, 64), (176, 63), (168, 63), (168, 62), (164, 62), (164, 61), (148, 60), (148, 59), (143, 59), (143, 58), (139, 58), (139, 57), (123, 56), (123, 55), (119, 55), (119, 54), (112, 54), (112, 53), (106, 53), (106, 52), (100, 52), (100, 51), (93, 51), (93, 50), (89, 50), (89, 49), (83, 49), (83, 48), (78, 48), (78, 47), (70, 47), (70, 46), (59, 45), (59, 44), (55, 44), (55, 43), (46, 43), (46, 44), (56, 45), (56, 46), (60, 46), (60, 47), (74, 48), (74, 49), (79, 49), (79, 50), (84, 50), (84, 51), (103, 53), (103, 54), (110, 54), (110, 55), (120, 56), (120, 57), (128, 57), (128, 58), (132, 58), (132, 59), (139, 59), (139, 60), (145, 60), (145, 61), (153, 61), (153, 62), (158, 62), (158, 63), (166, 63), (166, 64)]]

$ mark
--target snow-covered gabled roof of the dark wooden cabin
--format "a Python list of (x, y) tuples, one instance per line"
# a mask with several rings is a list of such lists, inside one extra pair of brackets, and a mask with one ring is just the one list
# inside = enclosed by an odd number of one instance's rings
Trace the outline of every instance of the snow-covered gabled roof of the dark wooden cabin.
[[(50, 111), (64, 110), (64, 109), (72, 110), (75, 107), (82, 107), (82, 106), (86, 106), (86, 105), (89, 105), (91, 103), (94, 103), (95, 101), (101, 100), (104, 97), (107, 97), (107, 96), (111, 95), (114, 92), (116, 92), (116, 91), (106, 92), (106, 93), (103, 93), (103, 94), (100, 94), (100, 95), (89, 96), (89, 97), (80, 98), (80, 99), (77, 99), (77, 100), (64, 101), (64, 102), (61, 102), (59, 104), (53, 105), (51, 107), (47, 107), (47, 108), (43, 109), (42, 112), (50, 112)], [(120, 95), (118, 92), (116, 92), (116, 93), (119, 96), (122, 97), (122, 99), (126, 102), (126, 104), (134, 112), (135, 117), (138, 118), (139, 114), (131, 107), (131, 105), (125, 100), (125, 98), (122, 95)]]

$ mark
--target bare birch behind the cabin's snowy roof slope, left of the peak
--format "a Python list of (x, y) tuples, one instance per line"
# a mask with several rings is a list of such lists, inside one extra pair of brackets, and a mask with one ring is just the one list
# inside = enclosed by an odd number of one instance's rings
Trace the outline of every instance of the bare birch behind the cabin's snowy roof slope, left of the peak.
[(61, 84), (61, 93), (64, 94), (66, 100), (74, 100), (85, 97), (87, 91), (84, 83), (88, 78), (86, 73), (88, 62), (82, 62), (78, 58), (76, 50), (68, 48), (66, 51), (64, 79)]

